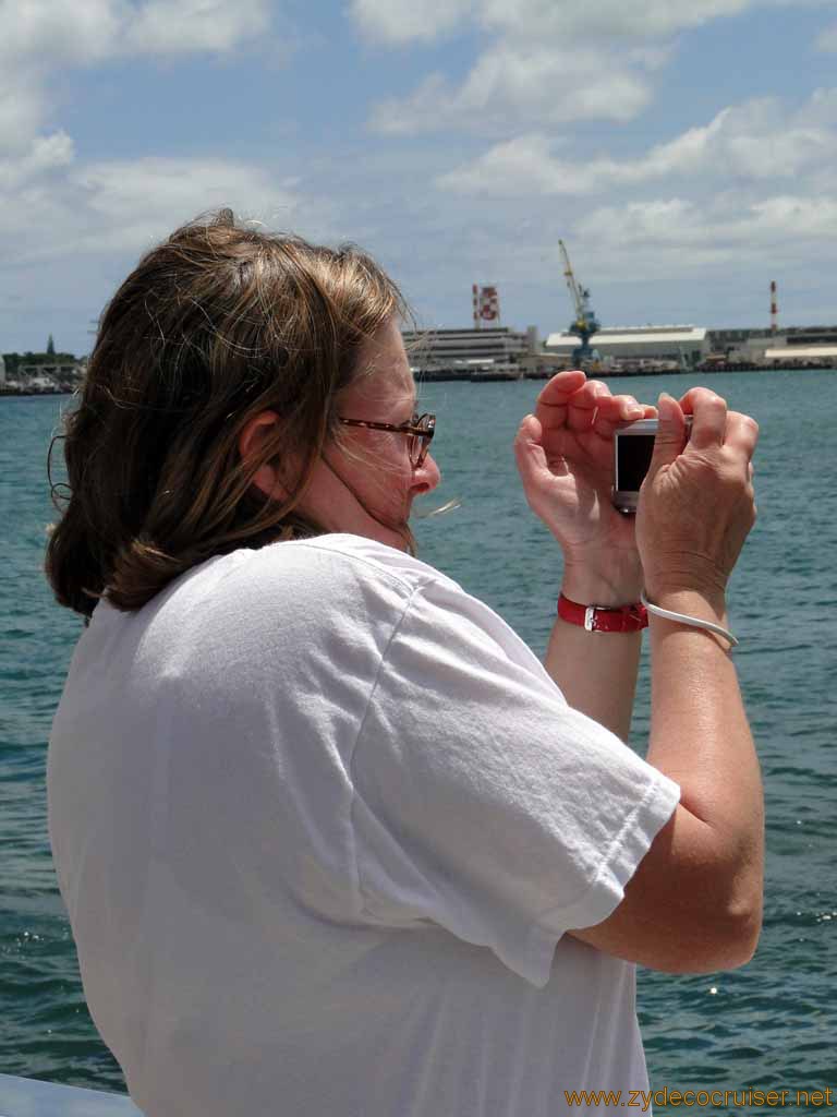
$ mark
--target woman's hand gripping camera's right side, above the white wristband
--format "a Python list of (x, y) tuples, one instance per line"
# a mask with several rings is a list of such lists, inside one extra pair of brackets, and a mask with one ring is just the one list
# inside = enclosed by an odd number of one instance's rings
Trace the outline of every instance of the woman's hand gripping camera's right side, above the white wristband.
[[(759, 435), (706, 388), (661, 395), (654, 457), (636, 514), (645, 592), (699, 593), (723, 608), (727, 581), (756, 522), (751, 459)], [(692, 416), (686, 441), (685, 416)]]

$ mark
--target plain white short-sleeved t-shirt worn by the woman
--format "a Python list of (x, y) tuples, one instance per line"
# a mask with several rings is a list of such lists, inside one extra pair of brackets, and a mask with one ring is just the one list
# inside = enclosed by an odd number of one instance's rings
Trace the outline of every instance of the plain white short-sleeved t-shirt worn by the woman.
[(352, 535), (103, 602), (49, 824), (151, 1117), (558, 1117), (645, 1089), (619, 903), (679, 789), (488, 607)]

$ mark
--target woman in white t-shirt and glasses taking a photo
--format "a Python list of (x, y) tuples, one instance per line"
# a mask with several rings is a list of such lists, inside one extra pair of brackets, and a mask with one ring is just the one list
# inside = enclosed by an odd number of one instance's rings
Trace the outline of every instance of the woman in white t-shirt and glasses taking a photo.
[(155, 1117), (627, 1098), (647, 1088), (633, 963), (756, 945), (761, 794), (728, 642), (654, 615), (647, 763), (619, 739), (643, 584), (727, 623), (754, 424), (703, 389), (661, 398), (634, 528), (613, 431), (653, 409), (580, 372), (546, 385), (516, 443), (565, 560), (542, 666), (412, 556), (439, 470), (402, 313), (356, 250), (222, 211), (119, 288), (68, 421), (47, 565), (89, 627), (50, 834), (93, 1018)]

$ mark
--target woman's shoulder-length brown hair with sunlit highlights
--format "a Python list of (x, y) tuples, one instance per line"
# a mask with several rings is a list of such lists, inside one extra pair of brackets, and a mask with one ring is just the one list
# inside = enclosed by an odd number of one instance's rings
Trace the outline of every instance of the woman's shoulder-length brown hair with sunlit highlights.
[[(338, 393), (404, 313), (356, 248), (237, 226), (230, 210), (150, 251), (105, 309), (59, 436), (69, 495), (46, 560), (58, 601), (89, 615), (107, 592), (138, 609), (213, 555), (319, 534), (295, 509), (338, 437)], [(239, 436), (264, 410), (278, 432), (242, 461)], [(251, 485), (268, 460), (283, 476), (294, 462), (282, 502)]]

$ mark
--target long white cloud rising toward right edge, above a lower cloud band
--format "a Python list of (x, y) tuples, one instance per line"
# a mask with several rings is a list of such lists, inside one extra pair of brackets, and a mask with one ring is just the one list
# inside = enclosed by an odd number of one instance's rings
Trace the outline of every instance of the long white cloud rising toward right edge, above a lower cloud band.
[(589, 195), (683, 175), (769, 182), (837, 171), (837, 89), (817, 90), (796, 112), (772, 97), (724, 108), (636, 159), (579, 162), (571, 153), (557, 157), (554, 147), (545, 133), (528, 133), (441, 175), (436, 185), (484, 197)]

